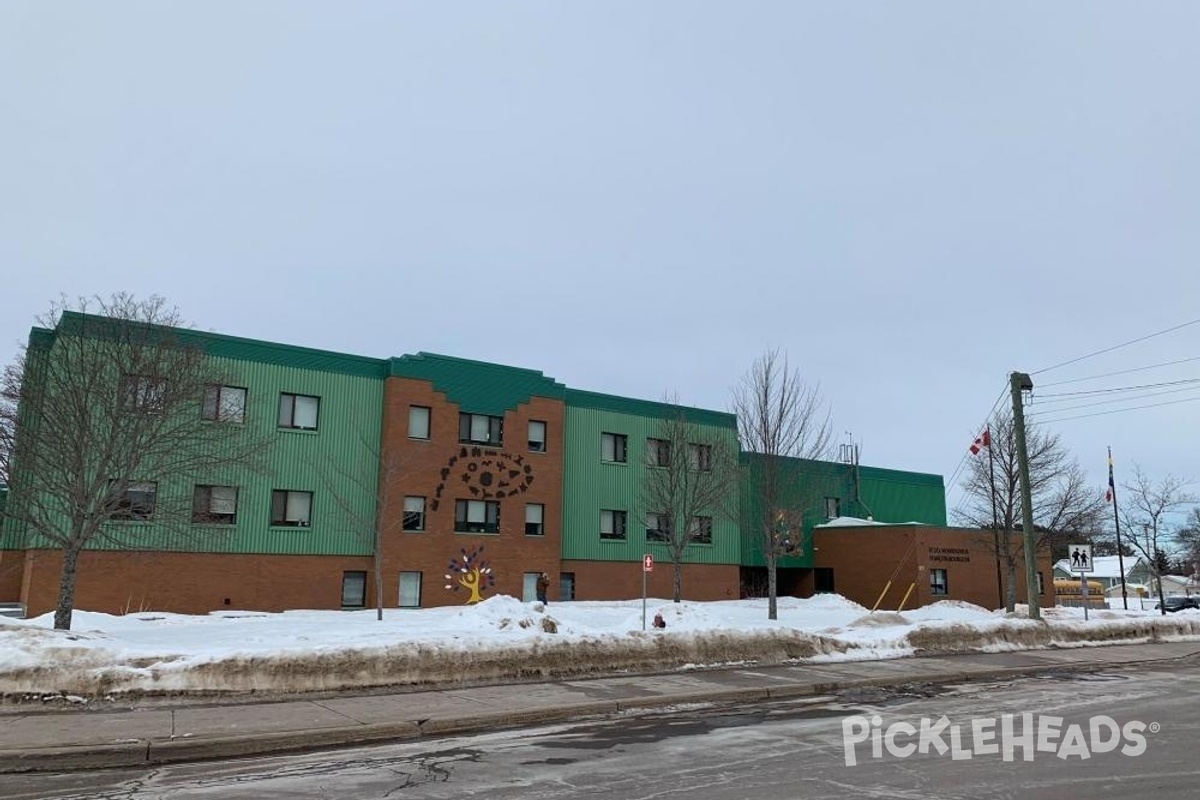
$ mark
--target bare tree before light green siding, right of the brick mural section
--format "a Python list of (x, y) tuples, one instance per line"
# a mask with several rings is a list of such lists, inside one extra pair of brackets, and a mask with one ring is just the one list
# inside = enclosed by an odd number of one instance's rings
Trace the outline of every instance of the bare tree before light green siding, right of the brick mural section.
[(647, 541), (666, 545), (674, 570), (672, 599), (679, 602), (688, 546), (712, 543), (714, 519), (732, 517), (738, 452), (736, 441), (689, 420), (678, 397), (665, 402), (677, 411), (659, 421), (647, 447), (641, 499)]

